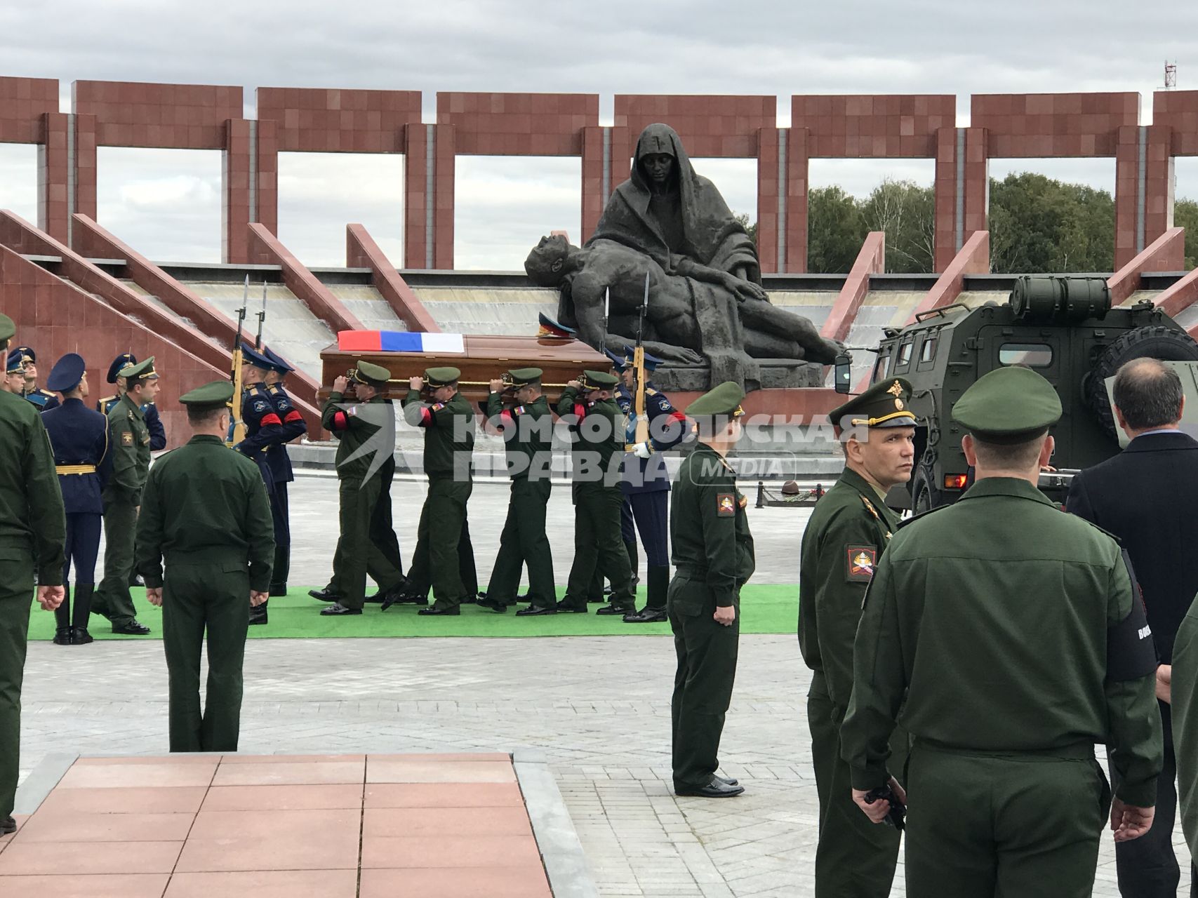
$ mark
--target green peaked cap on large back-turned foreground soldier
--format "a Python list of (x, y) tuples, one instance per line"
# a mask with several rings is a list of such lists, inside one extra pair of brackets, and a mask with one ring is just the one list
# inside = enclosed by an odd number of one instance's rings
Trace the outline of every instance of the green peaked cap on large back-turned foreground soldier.
[(1030, 368), (979, 377), (952, 406), (952, 420), (984, 443), (1011, 445), (1043, 436), (1060, 420), (1060, 396)]

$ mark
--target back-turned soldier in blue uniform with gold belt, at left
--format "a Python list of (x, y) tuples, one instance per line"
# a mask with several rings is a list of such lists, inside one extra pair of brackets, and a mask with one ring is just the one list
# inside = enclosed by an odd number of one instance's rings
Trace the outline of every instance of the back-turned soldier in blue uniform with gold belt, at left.
[[(96, 556), (104, 503), (101, 492), (111, 467), (108, 454), (108, 419), (84, 405), (87, 374), (83, 356), (69, 352), (50, 370), (46, 386), (62, 394), (62, 404), (43, 413), (42, 424), (50, 436), (54, 467), (62, 490), (67, 515), (66, 564), (62, 568), (65, 597), (54, 611), (59, 645), (85, 645), (91, 594), (96, 590)], [(71, 565), (74, 564), (74, 595), (71, 593)], [(72, 608), (72, 599), (74, 607)]]

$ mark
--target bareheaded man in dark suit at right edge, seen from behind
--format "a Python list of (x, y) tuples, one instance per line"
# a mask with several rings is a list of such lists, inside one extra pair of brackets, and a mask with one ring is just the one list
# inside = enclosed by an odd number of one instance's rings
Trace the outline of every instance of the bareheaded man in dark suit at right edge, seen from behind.
[[(1114, 534), (1131, 557), (1148, 609), (1161, 667), (1157, 698), (1164, 735), (1164, 767), (1157, 783), (1156, 819), (1138, 839), (1115, 844), (1124, 898), (1178, 893), (1173, 854), (1176, 760), (1168, 704), (1173, 641), (1198, 593), (1198, 441), (1179, 430), (1185, 395), (1181, 378), (1150, 358), (1129, 362), (1115, 375), (1115, 418), (1131, 438), (1127, 448), (1076, 474), (1065, 509)], [(1193, 864), (1191, 894), (1198, 875)]]

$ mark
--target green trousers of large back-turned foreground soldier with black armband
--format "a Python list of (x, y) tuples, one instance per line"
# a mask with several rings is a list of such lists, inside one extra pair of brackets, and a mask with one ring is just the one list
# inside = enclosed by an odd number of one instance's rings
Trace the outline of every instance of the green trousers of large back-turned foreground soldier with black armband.
[(1093, 746), (966, 754), (916, 739), (908, 898), (1089, 898), (1111, 803)]

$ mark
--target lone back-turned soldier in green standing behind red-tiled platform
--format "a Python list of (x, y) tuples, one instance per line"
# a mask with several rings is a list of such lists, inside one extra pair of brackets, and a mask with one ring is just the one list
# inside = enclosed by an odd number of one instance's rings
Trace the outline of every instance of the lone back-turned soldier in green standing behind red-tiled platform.
[(271, 583), (274, 540), (262, 477), (224, 444), (231, 399), (224, 380), (179, 398), (193, 436), (153, 466), (138, 518), (138, 570), (146, 599), (162, 606), (173, 752), (237, 751), (249, 608), (266, 601)]

